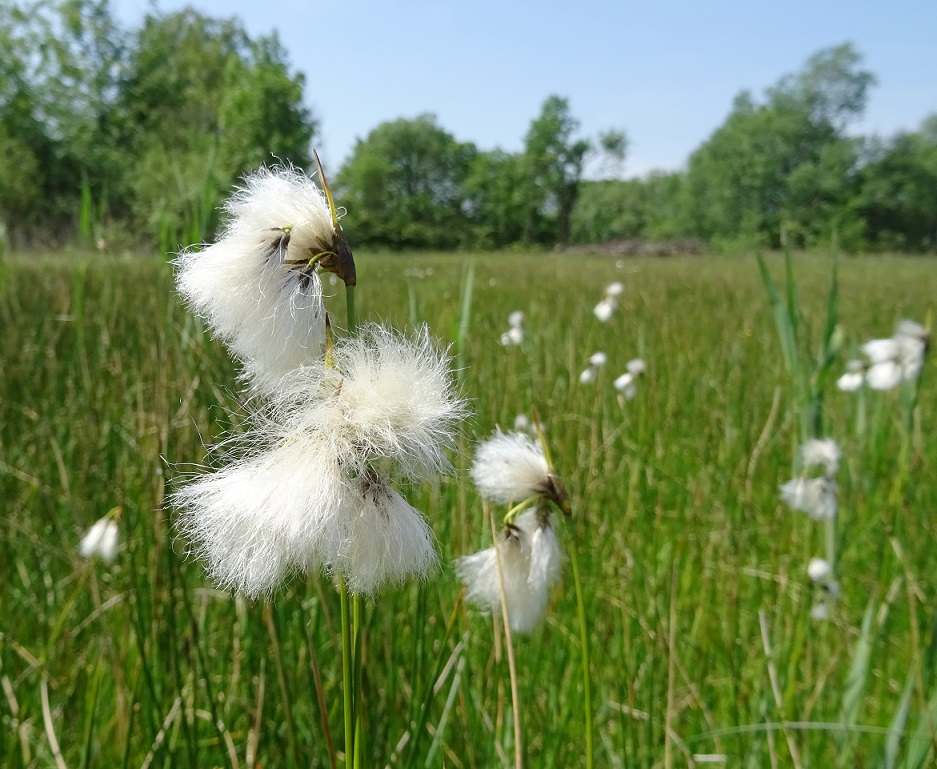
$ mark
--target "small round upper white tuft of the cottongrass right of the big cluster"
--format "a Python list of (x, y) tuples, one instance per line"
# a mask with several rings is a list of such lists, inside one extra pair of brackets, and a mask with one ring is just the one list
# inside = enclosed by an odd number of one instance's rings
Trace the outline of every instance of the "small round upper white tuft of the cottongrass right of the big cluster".
[(502, 504), (543, 494), (550, 484), (540, 442), (500, 430), (478, 445), (471, 475), (482, 496)]

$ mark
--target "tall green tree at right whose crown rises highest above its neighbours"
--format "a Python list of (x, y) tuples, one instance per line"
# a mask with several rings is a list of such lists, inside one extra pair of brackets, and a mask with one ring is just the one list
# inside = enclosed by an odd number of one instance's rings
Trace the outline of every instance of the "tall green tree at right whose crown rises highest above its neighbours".
[(729, 117), (690, 157), (686, 193), (693, 231), (714, 242), (809, 243), (829, 233), (857, 168), (844, 132), (874, 76), (851, 45), (812, 56), (756, 103), (736, 97)]

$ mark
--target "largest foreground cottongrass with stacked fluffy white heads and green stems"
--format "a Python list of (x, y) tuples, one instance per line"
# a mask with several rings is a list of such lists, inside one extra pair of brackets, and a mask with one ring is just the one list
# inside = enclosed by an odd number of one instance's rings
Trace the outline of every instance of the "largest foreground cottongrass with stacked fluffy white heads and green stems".
[[(450, 469), (466, 408), (426, 330), (359, 333), (354, 258), (318, 171), (321, 189), (292, 168), (249, 176), (226, 205), (221, 239), (176, 262), (179, 291), (242, 364), (251, 397), (247, 434), (170, 500), (190, 551), (223, 588), (257, 598), (291, 573), (336, 580), (352, 767), (363, 738), (360, 598), (436, 563), (429, 526), (393, 482)], [(351, 335), (337, 342), (323, 271), (346, 286)]]

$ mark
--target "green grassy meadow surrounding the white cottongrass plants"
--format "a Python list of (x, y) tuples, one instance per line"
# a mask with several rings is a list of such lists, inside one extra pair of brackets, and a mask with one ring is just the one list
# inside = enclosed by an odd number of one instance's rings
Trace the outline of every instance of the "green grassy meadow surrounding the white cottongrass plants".
[[(465, 469), (536, 409), (572, 499), (591, 659), (594, 764), (917, 767), (937, 740), (937, 387), (832, 379), (857, 344), (934, 309), (934, 263), (839, 260), (843, 345), (824, 383), (843, 448), (841, 596), (811, 619), (823, 532), (778, 485), (800, 443), (795, 393), (755, 259), (356, 254), (364, 320), (460, 338), (473, 417), (459, 473), (407, 490), (440, 568), (366, 612), (365, 766), (512, 766), (502, 628), (457, 606), (454, 557), (491, 541)], [(783, 280), (783, 260), (767, 264)], [(832, 260), (794, 259), (815, 347)], [(592, 308), (611, 281), (617, 312)], [(328, 280), (326, 286), (328, 287)], [(338, 293), (338, 289), (334, 291)], [(341, 317), (343, 300), (329, 300)], [(526, 315), (519, 347), (500, 334)], [(273, 600), (217, 590), (164, 497), (243, 425), (236, 369), (150, 258), (0, 263), (0, 766), (319, 767), (341, 756), (338, 598), (324, 576)], [(579, 373), (608, 355), (593, 384)], [(641, 357), (637, 396), (612, 380)], [(84, 531), (121, 510), (113, 563)], [(450, 623), (450, 619), (452, 620)], [(525, 765), (586, 766), (582, 644), (567, 569), (515, 635)]]

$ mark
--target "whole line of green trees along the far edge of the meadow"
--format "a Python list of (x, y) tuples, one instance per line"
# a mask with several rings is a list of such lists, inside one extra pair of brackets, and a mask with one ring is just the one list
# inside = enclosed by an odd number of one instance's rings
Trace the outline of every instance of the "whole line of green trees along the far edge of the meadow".
[[(333, 186), (354, 244), (374, 247), (692, 238), (934, 251), (937, 115), (855, 136), (874, 84), (851, 45), (820, 51), (760, 97), (741, 92), (683, 170), (628, 180), (625, 132), (583, 135), (561, 96), (513, 153), (459, 141), (427, 113), (359, 139)], [(210, 238), (244, 173), (274, 159), (309, 167), (319, 124), (305, 89), (276, 35), (252, 39), (236, 19), (153, 10), (128, 30), (106, 0), (4, 4), (5, 239), (173, 251)]]

